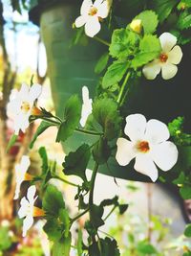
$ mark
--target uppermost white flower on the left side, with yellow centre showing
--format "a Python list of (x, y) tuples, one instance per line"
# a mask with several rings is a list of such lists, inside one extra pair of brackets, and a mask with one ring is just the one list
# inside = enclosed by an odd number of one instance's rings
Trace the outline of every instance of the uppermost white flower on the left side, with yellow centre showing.
[(25, 132), (26, 128), (29, 127), (32, 107), (41, 90), (42, 86), (40, 84), (36, 83), (29, 87), (23, 83), (20, 91), (14, 90), (14, 93), (11, 94), (8, 111), (13, 114), (15, 134), (18, 135), (20, 129)]

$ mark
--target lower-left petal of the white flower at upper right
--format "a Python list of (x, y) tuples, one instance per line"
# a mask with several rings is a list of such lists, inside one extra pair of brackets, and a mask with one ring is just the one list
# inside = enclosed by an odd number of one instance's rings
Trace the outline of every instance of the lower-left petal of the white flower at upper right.
[(143, 67), (142, 73), (147, 80), (154, 80), (158, 76), (160, 69), (159, 60), (153, 60)]

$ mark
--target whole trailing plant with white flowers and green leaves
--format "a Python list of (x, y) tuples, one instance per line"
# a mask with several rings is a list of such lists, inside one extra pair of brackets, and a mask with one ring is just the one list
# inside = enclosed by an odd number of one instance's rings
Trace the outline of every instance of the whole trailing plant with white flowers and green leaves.
[[(136, 171), (154, 182), (161, 180), (179, 184), (182, 198), (191, 198), (191, 135), (184, 131), (183, 117), (173, 117), (169, 124), (164, 124), (155, 116), (147, 121), (143, 109), (140, 112), (132, 111), (131, 107), (126, 109), (126, 103), (133, 99), (132, 93), (135, 93), (134, 87), (139, 81), (157, 80), (161, 71), (161, 78), (168, 86), (168, 81), (179, 75), (179, 64), (184, 58), (182, 45), (191, 41), (188, 35), (191, 30), (190, 1), (167, 1), (162, 5), (159, 5), (159, 1), (154, 2), (156, 4), (153, 7), (148, 5), (147, 10), (139, 13), (137, 10), (135, 17), (125, 26), (116, 28), (113, 12), (117, 12), (120, 3), (114, 1), (112, 5), (111, 1), (106, 0), (83, 1), (80, 15), (74, 21), (77, 40), (85, 33), (108, 47), (107, 53), (96, 64), (96, 73), (103, 75), (94, 99), (89, 93), (88, 84), (82, 84), (81, 96), (72, 95), (65, 103), (63, 117), (59, 117), (37, 106), (41, 91), (39, 84), (32, 84), (31, 87), (23, 84), (20, 92), (11, 97), (9, 107), (14, 113), (15, 134), (9, 148), (19, 130), (25, 132), (36, 119), (42, 120), (42, 123), (32, 138), (31, 149), (37, 137), (52, 126), (58, 128), (56, 142), (66, 142), (75, 132), (94, 138), (93, 143), (82, 142), (77, 149), (70, 151), (63, 162), (64, 175), (80, 177), (80, 184), (57, 175), (55, 167), (49, 164), (44, 148), (39, 151), (43, 160), (41, 175), (26, 176), (30, 165), (27, 158), (22, 158), (20, 164), (24, 169), (22, 174), (19, 175), (16, 169), (15, 199), (18, 198), (22, 181), (32, 182), (27, 198), (21, 199), (18, 212), (20, 218), (25, 218), (23, 235), (32, 226), (34, 217), (44, 218), (44, 230), (53, 241), (53, 255), (70, 255), (73, 241), (71, 228), (75, 221), (87, 213), (89, 220), (84, 228), (88, 240), (83, 241), (79, 230), (76, 247), (78, 255), (120, 255), (117, 241), (109, 237), (100, 238), (98, 229), (115, 209), (118, 208), (119, 213), (123, 214), (128, 205), (120, 204), (117, 197), (105, 199), (99, 205), (94, 202), (96, 174), (101, 166), (110, 169), (111, 158), (119, 166), (127, 166), (123, 172)], [(123, 4), (125, 6), (125, 3), (121, 3), (121, 6)], [(170, 23), (169, 19), (177, 12), (180, 16)], [(163, 21), (168, 24), (165, 30)], [(112, 33), (107, 41), (97, 36), (102, 24)], [(92, 177), (88, 179), (86, 170), (92, 163)], [(75, 199), (78, 200), (79, 213), (75, 217), (69, 215), (58, 189), (49, 184), (52, 178), (77, 188)], [(42, 208), (34, 206), (37, 198), (36, 182), (40, 182)], [(85, 200), (86, 195), (88, 202)], [(104, 217), (107, 206), (113, 206), (112, 211)]]

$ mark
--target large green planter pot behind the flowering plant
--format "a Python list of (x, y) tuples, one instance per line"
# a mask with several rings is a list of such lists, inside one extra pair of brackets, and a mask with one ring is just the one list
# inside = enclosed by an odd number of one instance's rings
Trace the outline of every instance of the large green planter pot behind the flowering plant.
[[(46, 8), (44, 8), (43, 2), (34, 7), (30, 14), (31, 19), (40, 24), (47, 52), (53, 101), (57, 114), (62, 117), (65, 102), (72, 94), (77, 93), (81, 96), (83, 85), (87, 85), (90, 96), (94, 96), (98, 81), (98, 77), (94, 73), (96, 61), (107, 49), (94, 39), (90, 39), (86, 46), (70, 47), (74, 35), (72, 24), (79, 15), (80, 9), (80, 6), (76, 4), (77, 1), (50, 1), (52, 5), (49, 4)], [(185, 51), (188, 52), (187, 49)], [(191, 111), (188, 111), (191, 86), (182, 84), (182, 78), (188, 77), (190, 71), (189, 66), (186, 68), (184, 66), (186, 66), (185, 63), (182, 63), (177, 77), (171, 81), (157, 79), (153, 82), (142, 79), (135, 86), (135, 92), (123, 108), (124, 116), (139, 112), (148, 119), (156, 118), (165, 123), (178, 115), (186, 115), (191, 120)], [(187, 97), (184, 102), (181, 102), (182, 86), (185, 90), (183, 96)], [(189, 126), (190, 124), (188, 124)], [(95, 140), (96, 137), (92, 135), (84, 136), (74, 133), (74, 136), (63, 144), (63, 148), (67, 153), (77, 149), (83, 142), (93, 143)], [(92, 165), (93, 162), (90, 163), (89, 168), (92, 168)], [(150, 181), (147, 176), (134, 171), (133, 164), (128, 167), (118, 166), (115, 158), (109, 161), (109, 169), (106, 165), (102, 165), (99, 172), (125, 179)]]

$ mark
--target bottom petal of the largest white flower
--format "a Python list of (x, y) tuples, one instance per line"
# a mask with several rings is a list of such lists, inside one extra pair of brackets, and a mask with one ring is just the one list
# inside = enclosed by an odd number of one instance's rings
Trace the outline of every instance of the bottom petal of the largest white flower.
[(153, 182), (158, 179), (158, 169), (149, 154), (139, 153), (134, 168), (138, 173), (149, 176)]

